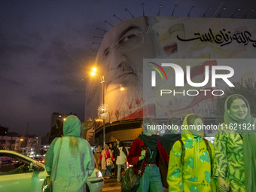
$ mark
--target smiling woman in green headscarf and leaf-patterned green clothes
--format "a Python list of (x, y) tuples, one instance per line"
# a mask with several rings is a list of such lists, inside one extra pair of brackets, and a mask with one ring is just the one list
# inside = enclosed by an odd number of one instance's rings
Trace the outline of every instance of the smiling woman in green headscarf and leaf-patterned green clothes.
[(224, 123), (215, 136), (218, 187), (220, 191), (256, 191), (256, 119), (244, 96), (229, 96), (224, 108)]

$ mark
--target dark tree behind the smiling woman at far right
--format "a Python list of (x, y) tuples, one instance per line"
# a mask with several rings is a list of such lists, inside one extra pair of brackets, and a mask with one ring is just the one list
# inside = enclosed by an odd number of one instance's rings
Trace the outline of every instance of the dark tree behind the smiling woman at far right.
[(256, 116), (256, 81), (248, 79), (246, 81), (240, 81), (233, 83), (235, 87), (225, 91), (225, 96), (219, 98), (216, 104), (216, 123), (224, 122), (224, 105), (228, 96), (233, 94), (239, 94), (245, 97), (249, 102), (251, 108), (251, 115)]

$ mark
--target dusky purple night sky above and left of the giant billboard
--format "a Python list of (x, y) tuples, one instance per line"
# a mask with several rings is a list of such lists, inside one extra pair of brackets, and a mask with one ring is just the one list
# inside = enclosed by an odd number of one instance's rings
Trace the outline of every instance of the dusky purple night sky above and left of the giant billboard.
[[(143, 1), (142, 1), (143, 2)], [(84, 121), (85, 81), (104, 31), (142, 16), (137, 0), (5, 0), (0, 3), (0, 124), (9, 132), (45, 136), (53, 112)], [(229, 2), (232, 2), (231, 4)], [(145, 15), (254, 18), (255, 1), (144, 1)], [(241, 8), (241, 11), (236, 11)], [(235, 12), (236, 11), (236, 12)], [(116, 14), (117, 17), (113, 17)], [(104, 23), (107, 20), (110, 24)], [(98, 27), (99, 29), (96, 29)], [(93, 36), (96, 36), (93, 38)], [(95, 42), (93, 44), (93, 42)], [(90, 51), (92, 50), (92, 51)]]

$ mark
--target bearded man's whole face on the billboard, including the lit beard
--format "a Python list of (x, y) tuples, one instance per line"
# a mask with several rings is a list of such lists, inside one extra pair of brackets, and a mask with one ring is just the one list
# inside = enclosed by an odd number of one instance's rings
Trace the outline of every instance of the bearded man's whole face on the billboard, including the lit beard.
[(109, 108), (125, 109), (142, 97), (143, 58), (155, 56), (148, 30), (146, 18), (139, 17), (114, 26), (105, 35), (97, 59), (105, 75)]

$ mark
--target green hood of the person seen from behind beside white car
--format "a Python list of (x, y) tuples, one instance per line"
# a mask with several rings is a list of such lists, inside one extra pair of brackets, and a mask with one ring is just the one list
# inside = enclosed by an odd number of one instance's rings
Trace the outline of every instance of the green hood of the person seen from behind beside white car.
[(81, 137), (82, 125), (78, 117), (69, 115), (63, 123), (63, 136)]

